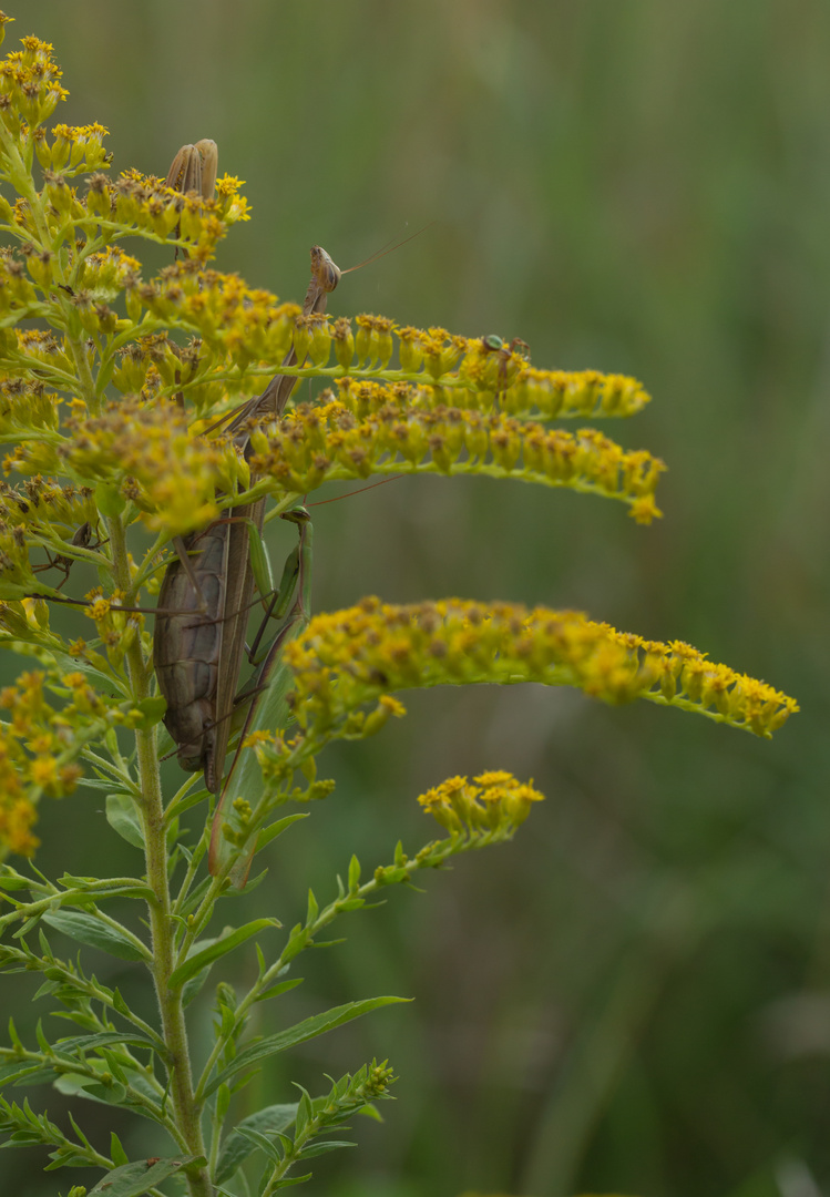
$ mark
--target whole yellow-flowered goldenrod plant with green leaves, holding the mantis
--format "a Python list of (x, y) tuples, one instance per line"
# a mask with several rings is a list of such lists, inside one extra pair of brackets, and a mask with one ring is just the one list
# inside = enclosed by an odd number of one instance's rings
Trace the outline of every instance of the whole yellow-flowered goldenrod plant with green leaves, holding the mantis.
[[(8, 20), (0, 14), (0, 25)], [(50, 1168), (100, 1169), (109, 1197), (269, 1197), (310, 1175), (313, 1156), (343, 1146), (348, 1119), (377, 1116), (393, 1080), (386, 1062), (358, 1061), (316, 1095), (281, 1094), (282, 1104), (240, 1120), (239, 1092), (269, 1056), (402, 1001), (343, 995), (343, 1004), (291, 1023), (280, 997), (299, 984), (297, 958), (391, 887), (512, 839), (542, 798), (532, 782), (499, 770), (437, 779), (417, 801), (440, 838), (414, 852), (398, 844), (367, 879), (356, 855), (344, 859), (334, 897), (319, 904), (310, 894), (306, 918), (282, 932), (279, 950), (279, 889), (258, 891), (261, 917), (219, 930), (224, 899), (245, 885), (257, 851), (332, 794), (316, 766), (328, 743), (378, 733), (405, 713), (399, 692), (439, 685), (573, 686), (763, 737), (798, 707), (681, 640), (643, 639), (578, 612), (367, 597), (310, 618), (300, 504), (328, 481), (484, 474), (611, 498), (648, 524), (660, 515), (663, 463), (596, 429), (551, 427), (634, 415), (648, 395), (627, 377), (537, 369), (526, 346), (493, 335), (368, 315), (331, 321), (215, 271), (216, 244), (250, 213), (239, 180), (215, 177), (215, 159), (201, 172), (197, 156), (212, 142), (188, 147), (176, 177), (112, 177), (102, 126), (53, 123), (66, 95), (51, 45), (35, 36), (0, 62), (0, 640), (28, 663), (0, 693), (0, 965), (38, 976), (44, 1014), (74, 1023), (72, 1035), (38, 1028), (24, 1043), (10, 1021), (0, 1126), (8, 1144), (48, 1147)], [(169, 254), (151, 277), (140, 260), (146, 242)], [(244, 407), (275, 376), (322, 387), (285, 411)], [(244, 439), (239, 411), (251, 413)], [(176, 746), (153, 668), (153, 596), (171, 563), (197, 571), (205, 529), (230, 527), (260, 500), (266, 519), (293, 518), (300, 530), (283, 584), (273, 588), (282, 598), (276, 638), (238, 704), (248, 722), (214, 762), (218, 780), (203, 784), (207, 749), (199, 748), (184, 754), (193, 772), (183, 780), (179, 772), (166, 792), (160, 762)], [(222, 569), (256, 570), (255, 533), (250, 560)], [(74, 563), (98, 571), (99, 585), (83, 600), (66, 585)], [(256, 577), (269, 601), (262, 561)], [(220, 608), (207, 618), (199, 584), (194, 594), (185, 631), (244, 614)], [(74, 638), (53, 630), (56, 602), (68, 603)], [(213, 668), (213, 658), (183, 652), (179, 661), (177, 651), (165, 645), (188, 682)], [(157, 644), (157, 663), (158, 652)], [(194, 698), (208, 704), (205, 742), (215, 731), (215, 685)], [(112, 834), (141, 849), (144, 873), (79, 876), (67, 858), (53, 880), (35, 868), (38, 834), (49, 834), (48, 813), (37, 828), (41, 803), (90, 795), (105, 798)], [(182, 821), (188, 810), (199, 814), (195, 837)], [(114, 917), (115, 899), (132, 901), (135, 918)], [(53, 932), (80, 944), (80, 955), (57, 955)], [(127, 985), (109, 988), (90, 972), (86, 947), (148, 973), (152, 1017), (136, 1011)], [(237, 949), (256, 952), (256, 979), (215, 988), (213, 1040), (194, 1051), (205, 1020), (191, 1015), (210, 968)], [(255, 1038), (250, 1019), (262, 1002), (273, 1029)], [(69, 1132), (45, 1111), (49, 1086), (75, 1101)], [(31, 1094), (23, 1101), (22, 1089)], [(91, 1142), (89, 1101), (149, 1119), (153, 1156), (130, 1160), (115, 1134), (105, 1148)]]

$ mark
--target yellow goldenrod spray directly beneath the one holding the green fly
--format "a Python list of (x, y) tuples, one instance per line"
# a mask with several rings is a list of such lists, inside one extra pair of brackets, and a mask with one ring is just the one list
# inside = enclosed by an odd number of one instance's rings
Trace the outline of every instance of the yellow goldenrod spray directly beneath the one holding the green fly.
[(486, 474), (616, 498), (641, 523), (660, 515), (665, 467), (645, 450), (623, 450), (596, 429), (570, 433), (422, 400), (405, 384), (344, 384), (340, 399), (255, 430), (251, 469), (300, 494), (376, 473)]

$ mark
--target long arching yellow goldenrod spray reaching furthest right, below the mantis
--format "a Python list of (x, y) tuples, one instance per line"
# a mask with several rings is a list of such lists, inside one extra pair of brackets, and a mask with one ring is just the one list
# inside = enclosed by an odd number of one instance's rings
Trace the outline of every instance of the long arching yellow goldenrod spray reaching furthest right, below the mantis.
[(316, 616), (285, 656), (294, 715), (312, 739), (359, 733), (376, 718), (364, 705), (390, 692), (475, 682), (574, 686), (606, 703), (646, 698), (765, 737), (798, 710), (794, 699), (679, 640), (645, 640), (576, 612), (513, 603), (366, 598)]

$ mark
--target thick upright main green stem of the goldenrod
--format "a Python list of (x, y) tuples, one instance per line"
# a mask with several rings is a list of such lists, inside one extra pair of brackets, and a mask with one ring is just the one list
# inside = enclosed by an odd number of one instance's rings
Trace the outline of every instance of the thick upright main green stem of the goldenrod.
[[(127, 560), (127, 541), (121, 521), (108, 519), (110, 543), (112, 546), (112, 566), (117, 584), (123, 590), (129, 589), (129, 566)], [(141, 645), (136, 639), (127, 651), (127, 668), (133, 683), (135, 700), (140, 703), (149, 697), (149, 680), (145, 668)], [(205, 1140), (201, 1126), (201, 1108), (195, 1100), (188, 1031), (182, 1005), (181, 990), (170, 988), (170, 976), (173, 971), (176, 922), (171, 911), (170, 886), (167, 880), (166, 827), (164, 802), (161, 796), (161, 778), (155, 747), (155, 729), (136, 730), (136, 761), (141, 800), (139, 815), (141, 818), (147, 882), (153, 891), (154, 900), (148, 903), (149, 929), (153, 958), (149, 966), (155, 988), (155, 997), (161, 1017), (161, 1034), (170, 1053), (169, 1076), (170, 1098), (173, 1117), (183, 1142), (193, 1155), (205, 1155)], [(190, 1197), (210, 1197), (212, 1186), (207, 1168), (188, 1172)]]

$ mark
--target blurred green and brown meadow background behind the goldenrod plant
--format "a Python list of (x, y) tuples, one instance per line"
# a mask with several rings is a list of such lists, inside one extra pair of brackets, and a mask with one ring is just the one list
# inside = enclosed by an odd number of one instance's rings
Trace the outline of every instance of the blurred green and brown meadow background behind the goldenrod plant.
[[(828, 5), (6, 11), (7, 45), (30, 31), (55, 44), (61, 119), (106, 124), (116, 170), (164, 174), (182, 142), (219, 142), (254, 206), (221, 268), (300, 299), (315, 242), (347, 267), (428, 224), (343, 279), (330, 310), (521, 336), (537, 365), (628, 372), (653, 394), (604, 429), (669, 463), (659, 525), (518, 484), (407, 479), (318, 510), (317, 609), (371, 593), (576, 607), (689, 640), (802, 706), (768, 743), (648, 704), (446, 689), (330, 753), (337, 794), (280, 841), (266, 882), (289, 925), (353, 850), (371, 869), (398, 837), (410, 851), (428, 838), (414, 800), (448, 774), (511, 768), (549, 801), (512, 846), (355, 918), (285, 1008), (262, 1010), (266, 1031), (326, 1002), (416, 998), (254, 1087), (251, 1101), (291, 1100), (292, 1078), (321, 1092), (323, 1071), (372, 1055), (401, 1074), (385, 1125), (359, 1120), (359, 1150), (315, 1161), (307, 1191), (826, 1192)], [(139, 867), (96, 798), (44, 809), (41, 832), (47, 873), (93, 871), (102, 853)], [(28, 985), (12, 997), (28, 1003)], [(29, 1033), (41, 1004), (24, 1004)], [(32, 1096), (65, 1118), (57, 1095)], [(81, 1116), (105, 1146), (108, 1112)], [(117, 1125), (133, 1154), (158, 1154), (145, 1128)], [(6, 1153), (4, 1190), (54, 1193), (44, 1162)]]

